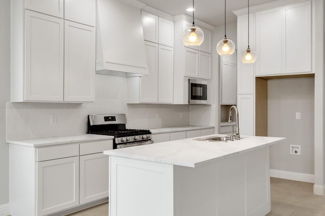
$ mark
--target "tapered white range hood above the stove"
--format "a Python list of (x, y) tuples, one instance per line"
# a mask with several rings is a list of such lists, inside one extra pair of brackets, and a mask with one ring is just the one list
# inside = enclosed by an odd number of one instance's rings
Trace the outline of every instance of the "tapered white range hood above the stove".
[(141, 8), (135, 0), (97, 0), (96, 73), (148, 75)]

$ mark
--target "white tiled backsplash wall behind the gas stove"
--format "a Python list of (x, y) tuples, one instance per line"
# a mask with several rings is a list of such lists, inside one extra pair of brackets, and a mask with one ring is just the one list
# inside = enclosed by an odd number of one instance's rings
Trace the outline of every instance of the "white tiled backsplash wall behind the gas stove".
[[(125, 77), (96, 74), (94, 103), (7, 103), (7, 139), (83, 134), (87, 115), (100, 113), (129, 114), (126, 126), (136, 129), (189, 124), (189, 105), (127, 105), (126, 92)], [(56, 124), (50, 124), (51, 114)]]

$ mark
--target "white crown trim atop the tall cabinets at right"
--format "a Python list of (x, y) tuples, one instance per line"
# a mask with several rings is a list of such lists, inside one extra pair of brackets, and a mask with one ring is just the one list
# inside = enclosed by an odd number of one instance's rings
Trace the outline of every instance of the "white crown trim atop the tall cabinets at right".
[[(308, 2), (308, 1), (310, 2), (310, 0), (307, 0), (307, 1), (306, 0), (278, 0), (278, 1), (270, 2), (270, 3), (266, 3), (266, 4), (262, 4), (262, 5), (256, 5), (256, 6), (249, 7), (249, 12), (253, 13), (256, 11), (262, 11), (262, 10), (266, 10), (266, 9), (270, 9), (270, 8), (276, 8), (276, 7), (281, 7), (281, 6), (285, 6), (285, 5), (289, 5), (289, 4), (294, 4), (294, 3), (299, 3), (299, 2)], [(233, 11), (233, 13), (237, 16), (247, 14), (247, 8), (235, 10), (235, 11)]]

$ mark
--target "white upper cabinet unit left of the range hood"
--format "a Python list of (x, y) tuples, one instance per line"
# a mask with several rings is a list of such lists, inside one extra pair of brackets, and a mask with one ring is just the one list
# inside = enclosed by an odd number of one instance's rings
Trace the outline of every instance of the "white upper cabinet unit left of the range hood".
[(63, 1), (43, 2), (12, 2), (11, 101), (94, 101), (95, 28), (46, 15)]

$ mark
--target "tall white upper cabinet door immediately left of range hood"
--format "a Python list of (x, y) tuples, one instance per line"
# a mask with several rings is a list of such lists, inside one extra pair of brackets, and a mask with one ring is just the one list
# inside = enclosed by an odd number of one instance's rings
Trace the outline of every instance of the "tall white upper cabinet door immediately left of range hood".
[(95, 29), (64, 21), (64, 101), (95, 100)]

